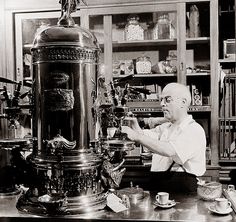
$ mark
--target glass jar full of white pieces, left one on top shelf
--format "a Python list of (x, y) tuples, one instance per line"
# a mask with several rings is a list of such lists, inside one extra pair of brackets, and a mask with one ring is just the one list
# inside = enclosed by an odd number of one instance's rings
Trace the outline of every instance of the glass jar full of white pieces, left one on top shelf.
[(126, 41), (144, 40), (144, 29), (139, 24), (138, 15), (129, 15), (125, 26), (124, 38)]

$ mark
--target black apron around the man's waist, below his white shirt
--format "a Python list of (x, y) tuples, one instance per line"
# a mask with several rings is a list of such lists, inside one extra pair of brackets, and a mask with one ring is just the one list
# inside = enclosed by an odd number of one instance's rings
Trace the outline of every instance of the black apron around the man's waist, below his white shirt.
[(195, 193), (197, 191), (197, 178), (185, 172), (171, 171), (173, 162), (167, 171), (151, 172), (151, 187), (156, 191)]

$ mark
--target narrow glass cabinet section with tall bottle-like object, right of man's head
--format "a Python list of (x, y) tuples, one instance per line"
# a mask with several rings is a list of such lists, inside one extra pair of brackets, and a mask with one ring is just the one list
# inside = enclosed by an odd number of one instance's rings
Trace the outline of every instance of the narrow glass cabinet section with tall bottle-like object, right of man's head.
[(185, 58), (187, 85), (192, 93), (192, 110), (210, 110), (210, 2), (186, 4)]

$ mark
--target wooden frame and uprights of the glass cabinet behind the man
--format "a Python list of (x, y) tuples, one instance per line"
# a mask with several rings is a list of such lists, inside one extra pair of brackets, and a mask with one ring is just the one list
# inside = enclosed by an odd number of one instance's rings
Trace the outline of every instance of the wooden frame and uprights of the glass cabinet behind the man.
[[(186, 38), (186, 4), (187, 3), (208, 2), (210, 10), (210, 36), (200, 37), (198, 40)], [(210, 147), (211, 147), (211, 165), (218, 166), (218, 1), (217, 0), (169, 0), (169, 1), (148, 1), (142, 2), (138, 0), (130, 0), (129, 3), (114, 1), (109, 3), (104, 1), (103, 5), (98, 6), (96, 1), (88, 1), (88, 6), (82, 7), (81, 24), (85, 24), (85, 28), (89, 28), (89, 16), (104, 15), (104, 63), (107, 66), (107, 73), (112, 73), (112, 15), (113, 14), (128, 14), (130, 8), (132, 13), (153, 12), (153, 11), (168, 11), (175, 9), (177, 11), (177, 81), (186, 84), (186, 46), (194, 41), (209, 41), (210, 43)], [(83, 20), (85, 22), (83, 22)], [(108, 78), (112, 78), (109, 76)], [(108, 81), (110, 81), (108, 79)], [(209, 110), (208, 110), (209, 111)]]

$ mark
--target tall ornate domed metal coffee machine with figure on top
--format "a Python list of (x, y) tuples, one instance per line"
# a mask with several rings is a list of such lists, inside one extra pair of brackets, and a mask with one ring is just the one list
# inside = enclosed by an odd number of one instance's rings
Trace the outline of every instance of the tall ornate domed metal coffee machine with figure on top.
[[(76, 0), (61, 0), (61, 18), (34, 39), (33, 152), (28, 191), (17, 203), (31, 214), (80, 214), (103, 209), (106, 190), (121, 180), (121, 164), (95, 149), (93, 103), (99, 45), (71, 13)], [(106, 181), (106, 185), (104, 185)], [(118, 183), (117, 183), (118, 181)]]

